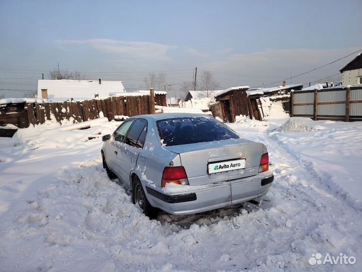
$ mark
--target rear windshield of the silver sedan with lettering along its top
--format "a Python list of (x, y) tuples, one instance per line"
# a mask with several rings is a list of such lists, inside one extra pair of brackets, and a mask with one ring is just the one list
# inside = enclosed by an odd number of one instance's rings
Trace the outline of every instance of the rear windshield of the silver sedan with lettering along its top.
[(166, 146), (239, 139), (228, 126), (213, 118), (181, 117), (158, 120), (158, 133)]

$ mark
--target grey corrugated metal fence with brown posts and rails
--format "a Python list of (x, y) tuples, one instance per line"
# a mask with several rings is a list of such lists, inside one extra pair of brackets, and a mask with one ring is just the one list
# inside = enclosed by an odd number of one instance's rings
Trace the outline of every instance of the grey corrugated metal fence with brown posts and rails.
[(362, 121), (362, 86), (291, 92), (291, 116)]

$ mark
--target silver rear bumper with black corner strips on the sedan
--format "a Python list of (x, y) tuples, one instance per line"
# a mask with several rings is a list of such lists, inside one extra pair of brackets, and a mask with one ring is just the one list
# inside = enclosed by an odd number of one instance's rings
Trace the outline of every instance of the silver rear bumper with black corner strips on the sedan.
[[(232, 203), (245, 202), (266, 194), (273, 180), (274, 175), (269, 171), (252, 177), (232, 180)], [(195, 187), (195, 190), (192, 187)], [(190, 186), (185, 193), (166, 194), (161, 187), (149, 186), (146, 186), (146, 192), (153, 207), (172, 215), (202, 213), (231, 205), (229, 181)]]

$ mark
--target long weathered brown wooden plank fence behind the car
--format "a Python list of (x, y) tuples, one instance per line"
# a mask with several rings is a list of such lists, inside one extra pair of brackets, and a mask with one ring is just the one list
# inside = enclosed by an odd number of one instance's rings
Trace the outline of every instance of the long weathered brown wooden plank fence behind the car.
[(155, 104), (167, 106), (165, 95), (112, 96), (81, 102), (9, 103), (0, 105), (0, 125), (14, 124), (24, 128), (29, 124), (42, 124), (51, 119), (60, 122), (74, 118), (76, 122), (83, 122), (103, 116), (108, 120), (120, 120), (124, 116), (154, 113)]

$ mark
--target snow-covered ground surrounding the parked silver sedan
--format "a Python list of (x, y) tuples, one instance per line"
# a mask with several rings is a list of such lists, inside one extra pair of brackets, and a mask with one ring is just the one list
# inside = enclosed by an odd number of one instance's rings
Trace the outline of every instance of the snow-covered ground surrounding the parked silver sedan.
[[(362, 122), (228, 124), (265, 143), (275, 181), (259, 205), (149, 220), (102, 168), (100, 136), (43, 124), (0, 138), (0, 271), (358, 271)], [(91, 139), (91, 140), (89, 140)], [(308, 263), (312, 254), (356, 263)]]

